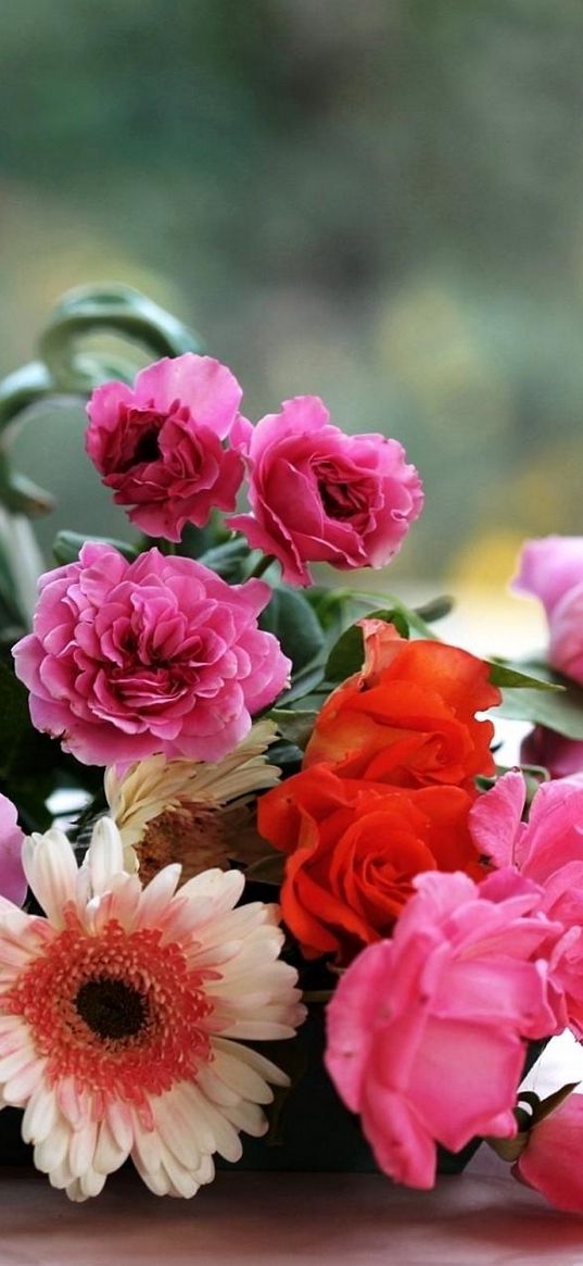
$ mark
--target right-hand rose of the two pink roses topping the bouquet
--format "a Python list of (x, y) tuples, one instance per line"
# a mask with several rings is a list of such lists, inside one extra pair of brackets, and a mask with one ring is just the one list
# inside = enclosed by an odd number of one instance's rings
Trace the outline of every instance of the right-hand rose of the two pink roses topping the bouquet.
[(415, 466), (384, 436), (345, 436), (317, 396), (296, 396), (231, 442), (245, 457), (253, 514), (229, 527), (274, 555), (291, 585), (310, 585), (309, 562), (383, 567), (397, 553), (424, 495)]

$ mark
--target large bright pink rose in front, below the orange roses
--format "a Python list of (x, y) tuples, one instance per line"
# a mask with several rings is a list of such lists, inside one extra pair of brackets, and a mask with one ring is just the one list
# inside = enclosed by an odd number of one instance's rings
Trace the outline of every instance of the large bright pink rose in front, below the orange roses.
[(415, 880), (392, 941), (368, 946), (328, 1008), (326, 1067), (379, 1167), (430, 1188), (435, 1143), (516, 1133), (525, 1039), (562, 1027), (546, 956), (558, 932), (512, 871)]

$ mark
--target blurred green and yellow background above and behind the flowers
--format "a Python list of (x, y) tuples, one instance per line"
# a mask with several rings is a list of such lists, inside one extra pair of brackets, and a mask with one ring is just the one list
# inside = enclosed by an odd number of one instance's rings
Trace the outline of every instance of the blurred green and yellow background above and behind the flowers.
[[(396, 577), (506, 579), (525, 534), (583, 533), (582, 54), (582, 0), (5, 4), (0, 372), (68, 287), (138, 286), (249, 417), (316, 392), (405, 443)], [(46, 548), (125, 528), (82, 430), (15, 443)]]

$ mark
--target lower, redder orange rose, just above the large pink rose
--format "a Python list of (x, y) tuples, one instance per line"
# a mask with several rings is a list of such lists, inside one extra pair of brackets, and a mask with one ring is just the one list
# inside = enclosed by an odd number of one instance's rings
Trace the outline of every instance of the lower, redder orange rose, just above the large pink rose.
[(472, 796), (340, 779), (319, 765), (259, 801), (262, 836), (286, 852), (285, 922), (307, 958), (350, 962), (388, 936), (420, 871), (483, 870), (468, 832)]

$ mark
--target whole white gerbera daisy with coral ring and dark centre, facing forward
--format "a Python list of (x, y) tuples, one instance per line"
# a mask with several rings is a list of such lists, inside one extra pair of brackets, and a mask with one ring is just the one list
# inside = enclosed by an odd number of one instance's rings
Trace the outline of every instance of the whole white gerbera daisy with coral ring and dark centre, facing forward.
[(210, 870), (144, 889), (102, 818), (81, 868), (61, 830), (25, 841), (47, 918), (0, 898), (0, 1106), (25, 1108), (34, 1162), (72, 1200), (132, 1157), (157, 1195), (191, 1196), (212, 1155), (267, 1128), (286, 1076), (238, 1041), (293, 1037), (296, 971), (277, 906), (234, 909), (244, 877)]

